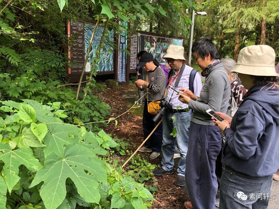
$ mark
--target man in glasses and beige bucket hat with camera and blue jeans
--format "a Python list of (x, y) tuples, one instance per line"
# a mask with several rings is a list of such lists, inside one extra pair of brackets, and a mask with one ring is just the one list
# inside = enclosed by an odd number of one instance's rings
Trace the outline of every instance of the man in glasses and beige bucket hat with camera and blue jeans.
[[(178, 100), (179, 95), (173, 90), (187, 88), (199, 96), (202, 88), (201, 76), (192, 67), (185, 65), (184, 47), (169, 45), (167, 53), (163, 57), (170, 65), (169, 80), (165, 100), (170, 103), (169, 109), (163, 115), (163, 145), (162, 145), (162, 167), (153, 171), (155, 176), (172, 174), (174, 168), (175, 142), (180, 152), (180, 160), (177, 169), (177, 186), (185, 186), (186, 155), (188, 150), (189, 126), (191, 120), (191, 110), (188, 105)], [(172, 134), (173, 128), (176, 135)]]

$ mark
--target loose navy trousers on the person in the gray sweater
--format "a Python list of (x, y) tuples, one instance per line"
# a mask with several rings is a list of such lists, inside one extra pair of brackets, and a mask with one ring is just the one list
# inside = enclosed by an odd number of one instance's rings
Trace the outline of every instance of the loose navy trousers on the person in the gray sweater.
[(222, 138), (217, 126), (191, 122), (185, 179), (194, 209), (216, 208), (218, 183), (215, 161), (221, 147)]

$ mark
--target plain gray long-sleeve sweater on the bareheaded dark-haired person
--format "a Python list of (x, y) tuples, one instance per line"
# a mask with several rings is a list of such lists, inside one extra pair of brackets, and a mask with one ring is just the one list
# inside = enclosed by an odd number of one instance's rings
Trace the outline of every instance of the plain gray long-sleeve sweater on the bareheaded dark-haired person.
[[(216, 72), (223, 71), (223, 72)], [(209, 75), (205, 78), (205, 83), (201, 89), (200, 97), (189, 102), (189, 108), (193, 110), (191, 121), (200, 125), (213, 125), (211, 116), (206, 113), (206, 110), (227, 113), (231, 85), (228, 76), (226, 75), (223, 63), (212, 67)]]

